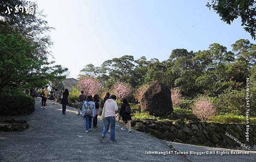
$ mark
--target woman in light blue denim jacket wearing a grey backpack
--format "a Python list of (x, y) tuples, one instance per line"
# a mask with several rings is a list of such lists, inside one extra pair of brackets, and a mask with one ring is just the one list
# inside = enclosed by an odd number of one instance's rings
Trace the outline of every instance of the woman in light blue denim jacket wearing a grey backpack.
[(85, 132), (88, 133), (92, 128), (92, 119), (95, 117), (95, 103), (92, 96), (88, 96), (84, 101), (82, 116), (85, 117)]

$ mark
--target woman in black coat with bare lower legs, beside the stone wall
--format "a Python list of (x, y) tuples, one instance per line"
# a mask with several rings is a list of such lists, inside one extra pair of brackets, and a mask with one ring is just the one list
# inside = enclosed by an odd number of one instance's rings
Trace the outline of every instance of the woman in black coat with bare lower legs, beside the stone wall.
[(121, 129), (123, 131), (125, 131), (125, 123), (128, 122), (128, 126), (129, 126), (128, 132), (131, 132), (131, 114), (125, 112), (126, 107), (130, 107), (130, 105), (128, 103), (128, 99), (124, 98), (123, 103), (121, 105), (120, 112), (119, 112), (119, 116), (122, 117), (122, 128)]

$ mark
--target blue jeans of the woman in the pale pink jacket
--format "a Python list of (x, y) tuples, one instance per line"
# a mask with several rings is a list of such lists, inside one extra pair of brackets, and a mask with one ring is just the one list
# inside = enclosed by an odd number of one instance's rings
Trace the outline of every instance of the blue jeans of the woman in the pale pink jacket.
[(108, 128), (109, 128), (109, 124), (111, 124), (111, 134), (110, 134), (110, 140), (114, 141), (115, 140), (115, 127), (116, 127), (116, 117), (112, 116), (112, 117), (105, 117), (104, 120), (104, 125), (105, 128), (102, 131), (102, 135), (105, 136)]

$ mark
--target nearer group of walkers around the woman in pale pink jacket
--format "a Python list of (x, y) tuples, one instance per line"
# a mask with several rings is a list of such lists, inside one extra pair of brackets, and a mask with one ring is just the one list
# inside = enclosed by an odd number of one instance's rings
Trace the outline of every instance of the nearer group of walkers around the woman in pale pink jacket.
[[(105, 138), (107, 132), (110, 132), (110, 141), (116, 142), (115, 139), (115, 127), (116, 127), (116, 111), (118, 111), (118, 105), (116, 103), (116, 96), (109, 94), (109, 92), (104, 97), (102, 109), (102, 120), (104, 121), (104, 128), (102, 135), (100, 136), (99, 141), (102, 142)], [(93, 97), (89, 95), (86, 97), (84, 91), (81, 91), (79, 95), (79, 105), (78, 105), (78, 114), (82, 111), (81, 116), (85, 118), (85, 132), (88, 133), (93, 128), (97, 127), (98, 115), (101, 112), (101, 103), (99, 95), (95, 94)], [(129, 129), (128, 132), (131, 132), (131, 107), (128, 103), (128, 99), (123, 99), (121, 109), (119, 111), (120, 117), (122, 117), (122, 128), (121, 130), (125, 131), (125, 123), (128, 123)]]

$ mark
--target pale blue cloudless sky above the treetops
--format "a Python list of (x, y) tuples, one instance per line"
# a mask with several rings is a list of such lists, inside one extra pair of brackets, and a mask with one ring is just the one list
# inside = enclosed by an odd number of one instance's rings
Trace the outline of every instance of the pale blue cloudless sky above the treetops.
[(224, 23), (207, 0), (37, 0), (55, 28), (52, 55), (76, 78), (85, 65), (123, 55), (166, 60), (175, 48), (204, 50), (220, 43), (231, 50), (241, 38), (256, 43), (241, 20)]

